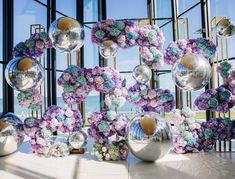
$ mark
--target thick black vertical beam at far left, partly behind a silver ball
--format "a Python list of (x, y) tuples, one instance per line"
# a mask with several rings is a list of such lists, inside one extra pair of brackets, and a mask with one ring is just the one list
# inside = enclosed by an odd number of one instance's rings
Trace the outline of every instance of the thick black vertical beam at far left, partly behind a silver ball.
[(14, 112), (14, 90), (5, 80), (5, 68), (12, 59), (14, 44), (14, 0), (3, 0), (3, 111)]

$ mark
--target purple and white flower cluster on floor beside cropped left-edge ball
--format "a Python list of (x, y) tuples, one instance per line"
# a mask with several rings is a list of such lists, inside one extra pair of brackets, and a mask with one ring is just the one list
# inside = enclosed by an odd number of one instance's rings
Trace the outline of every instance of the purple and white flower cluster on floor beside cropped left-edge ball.
[[(50, 106), (41, 119), (33, 117), (24, 121), (24, 131), (30, 137), (32, 151), (46, 156), (67, 156), (70, 147), (68, 137), (81, 130), (83, 120), (79, 111)], [(63, 134), (63, 142), (57, 141), (53, 133)]]

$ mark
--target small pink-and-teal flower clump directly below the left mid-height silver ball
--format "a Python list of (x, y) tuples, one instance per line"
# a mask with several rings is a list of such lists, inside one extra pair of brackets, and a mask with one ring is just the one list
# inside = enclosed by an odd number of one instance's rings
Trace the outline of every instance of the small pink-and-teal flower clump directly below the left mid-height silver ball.
[(21, 91), (17, 95), (20, 106), (27, 107), (33, 111), (38, 111), (42, 103), (42, 96), (38, 89), (31, 91)]

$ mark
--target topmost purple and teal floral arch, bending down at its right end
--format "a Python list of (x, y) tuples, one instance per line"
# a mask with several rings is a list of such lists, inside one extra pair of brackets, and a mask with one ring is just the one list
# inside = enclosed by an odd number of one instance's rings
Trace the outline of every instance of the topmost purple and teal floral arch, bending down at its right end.
[(115, 21), (112, 19), (97, 22), (91, 31), (92, 42), (101, 45), (111, 40), (120, 48), (140, 46), (143, 62), (152, 69), (163, 66), (163, 49), (165, 37), (156, 25), (138, 27), (134, 21)]

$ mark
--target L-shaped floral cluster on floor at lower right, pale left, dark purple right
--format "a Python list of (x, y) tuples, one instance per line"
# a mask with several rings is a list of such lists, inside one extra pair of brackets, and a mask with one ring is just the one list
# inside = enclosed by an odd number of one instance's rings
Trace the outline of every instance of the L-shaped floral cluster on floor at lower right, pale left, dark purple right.
[(176, 153), (210, 151), (216, 140), (229, 141), (235, 137), (235, 122), (229, 118), (212, 118), (199, 123), (190, 108), (175, 110), (173, 149)]

